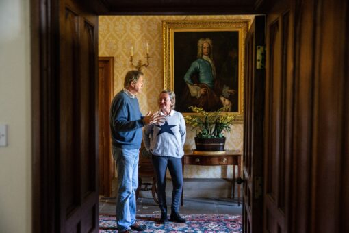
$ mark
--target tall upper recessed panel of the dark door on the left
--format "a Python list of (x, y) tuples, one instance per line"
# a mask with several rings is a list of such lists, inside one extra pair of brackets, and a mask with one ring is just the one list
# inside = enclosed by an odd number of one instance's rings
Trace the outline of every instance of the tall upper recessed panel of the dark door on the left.
[[(96, 82), (96, 35), (94, 34), (94, 25), (83, 19), (81, 22), (80, 32), (80, 73), (81, 82), (80, 88), (80, 119), (79, 119), (79, 137), (81, 138), (79, 143), (79, 153), (81, 154), (81, 197), (86, 198), (90, 193), (96, 191), (97, 182), (96, 174), (98, 167), (98, 160), (96, 160), (96, 154), (90, 153), (90, 151), (96, 151), (96, 124), (95, 119), (97, 110), (91, 103), (96, 103), (96, 91), (98, 82)], [(98, 116), (98, 115), (97, 115)], [(88, 136), (88, 137), (86, 137)]]

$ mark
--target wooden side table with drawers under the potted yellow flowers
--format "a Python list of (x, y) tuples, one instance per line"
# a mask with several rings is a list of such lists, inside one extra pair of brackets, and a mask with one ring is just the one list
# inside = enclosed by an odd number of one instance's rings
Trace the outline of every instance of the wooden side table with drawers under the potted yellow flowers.
[[(233, 165), (233, 180), (231, 182), (231, 197), (235, 198), (235, 169), (241, 174), (241, 154), (238, 150), (227, 151), (196, 151), (185, 150), (183, 156), (183, 177), (184, 165), (200, 166), (222, 166)], [(237, 186), (237, 204), (240, 206), (240, 185)], [(183, 191), (181, 195), (181, 205), (183, 206)]]

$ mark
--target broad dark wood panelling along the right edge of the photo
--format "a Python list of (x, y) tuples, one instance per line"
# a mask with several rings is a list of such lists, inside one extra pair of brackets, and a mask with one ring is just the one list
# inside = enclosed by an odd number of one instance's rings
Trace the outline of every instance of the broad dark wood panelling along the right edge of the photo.
[[(344, 83), (348, 82), (348, 60), (346, 53), (348, 41), (348, 1), (316, 1), (314, 15), (315, 41), (314, 41), (314, 110), (313, 110), (313, 143), (312, 143), (312, 170), (313, 185), (311, 187), (311, 232), (346, 232), (344, 225), (338, 224), (335, 219), (341, 218), (342, 201), (348, 196), (342, 196), (341, 190), (346, 184), (341, 183), (346, 179), (343, 166), (345, 144), (342, 131), (348, 115), (343, 113), (344, 103), (348, 90)], [(344, 20), (346, 19), (346, 21)], [(324, 143), (326, 142), (326, 143)], [(346, 164), (348, 165), (348, 164)], [(344, 185), (344, 186), (342, 186)], [(328, 214), (334, 219), (328, 221)], [(343, 222), (342, 222), (343, 224)], [(344, 223), (345, 224), (345, 223)]]

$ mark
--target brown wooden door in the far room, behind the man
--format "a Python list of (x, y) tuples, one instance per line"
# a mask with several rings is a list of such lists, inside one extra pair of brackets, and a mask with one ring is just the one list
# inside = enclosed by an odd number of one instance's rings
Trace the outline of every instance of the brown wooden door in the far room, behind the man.
[(99, 194), (112, 197), (112, 158), (109, 110), (114, 95), (114, 58), (99, 57)]

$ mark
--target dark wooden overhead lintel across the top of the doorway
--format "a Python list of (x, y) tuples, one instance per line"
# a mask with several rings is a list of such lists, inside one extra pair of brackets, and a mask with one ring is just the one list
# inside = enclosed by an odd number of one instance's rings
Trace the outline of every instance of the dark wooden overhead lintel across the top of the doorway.
[(263, 14), (271, 0), (88, 0), (99, 15)]

